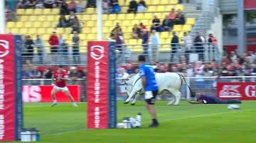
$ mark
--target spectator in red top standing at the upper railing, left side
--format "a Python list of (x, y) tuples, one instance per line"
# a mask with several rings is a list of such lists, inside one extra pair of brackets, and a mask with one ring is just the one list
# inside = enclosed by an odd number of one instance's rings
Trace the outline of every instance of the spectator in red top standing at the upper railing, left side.
[(58, 36), (57, 36), (57, 31), (53, 30), (52, 35), (50, 35), (50, 38), (48, 40), (50, 44), (50, 54), (52, 57), (53, 62), (57, 62), (57, 55), (58, 55)]

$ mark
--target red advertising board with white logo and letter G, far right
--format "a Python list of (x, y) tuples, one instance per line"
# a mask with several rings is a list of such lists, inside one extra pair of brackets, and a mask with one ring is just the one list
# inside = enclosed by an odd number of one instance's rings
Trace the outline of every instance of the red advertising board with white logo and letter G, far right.
[(256, 100), (256, 82), (224, 82), (217, 84), (217, 97), (238, 98), (242, 101)]

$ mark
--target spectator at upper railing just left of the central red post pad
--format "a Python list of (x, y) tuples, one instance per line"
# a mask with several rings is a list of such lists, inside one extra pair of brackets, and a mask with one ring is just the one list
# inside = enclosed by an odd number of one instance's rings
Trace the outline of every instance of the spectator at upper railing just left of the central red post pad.
[(79, 51), (80, 38), (79, 38), (77, 32), (74, 32), (72, 42), (73, 42), (73, 60), (74, 60), (74, 64), (80, 64), (80, 51)]

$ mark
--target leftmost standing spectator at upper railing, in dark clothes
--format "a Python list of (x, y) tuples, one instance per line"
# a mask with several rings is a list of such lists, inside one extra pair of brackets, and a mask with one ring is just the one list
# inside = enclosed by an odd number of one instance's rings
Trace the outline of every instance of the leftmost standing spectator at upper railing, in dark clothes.
[(34, 55), (34, 42), (31, 39), (30, 35), (26, 35), (26, 40), (23, 46), (23, 53), (22, 56), (26, 60), (33, 61), (33, 55)]

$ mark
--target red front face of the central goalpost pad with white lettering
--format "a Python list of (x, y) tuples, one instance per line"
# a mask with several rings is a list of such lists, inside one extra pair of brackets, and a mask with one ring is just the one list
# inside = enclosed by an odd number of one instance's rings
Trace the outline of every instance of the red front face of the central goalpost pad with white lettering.
[(87, 128), (108, 127), (108, 42), (90, 41), (87, 51)]

